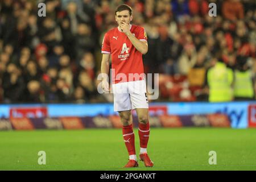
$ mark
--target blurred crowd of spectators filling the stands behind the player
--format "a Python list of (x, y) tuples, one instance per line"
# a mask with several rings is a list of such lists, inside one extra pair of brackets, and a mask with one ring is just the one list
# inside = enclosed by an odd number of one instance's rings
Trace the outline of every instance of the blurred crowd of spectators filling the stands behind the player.
[[(41, 2), (46, 17), (38, 16)], [(160, 73), (157, 101), (208, 100), (207, 73), (218, 61), (250, 71), (255, 99), (255, 0), (4, 0), (0, 102), (112, 102), (97, 92), (97, 76), (102, 39), (122, 3), (147, 32), (144, 70)], [(217, 16), (209, 16), (209, 3)]]

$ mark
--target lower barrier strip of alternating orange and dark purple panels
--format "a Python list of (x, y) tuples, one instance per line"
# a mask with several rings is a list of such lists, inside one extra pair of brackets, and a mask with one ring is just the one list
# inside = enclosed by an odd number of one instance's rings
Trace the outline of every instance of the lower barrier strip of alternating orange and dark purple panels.
[[(138, 120), (133, 117), (134, 126)], [(225, 114), (161, 115), (150, 118), (151, 127), (230, 127)], [(118, 115), (104, 117), (9, 118), (0, 119), (0, 130), (121, 128)]]

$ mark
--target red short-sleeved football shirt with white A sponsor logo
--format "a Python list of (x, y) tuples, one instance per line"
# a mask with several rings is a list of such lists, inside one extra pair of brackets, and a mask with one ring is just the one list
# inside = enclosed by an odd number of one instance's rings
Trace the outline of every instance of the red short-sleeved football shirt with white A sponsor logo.
[[(139, 40), (147, 41), (147, 34), (143, 27), (130, 25), (131, 33)], [(106, 32), (101, 53), (111, 54), (112, 58), (112, 82), (144, 80), (142, 53), (131, 43), (125, 33), (117, 27)], [(140, 75), (140, 76), (139, 76)], [(123, 77), (126, 76), (126, 79)]]

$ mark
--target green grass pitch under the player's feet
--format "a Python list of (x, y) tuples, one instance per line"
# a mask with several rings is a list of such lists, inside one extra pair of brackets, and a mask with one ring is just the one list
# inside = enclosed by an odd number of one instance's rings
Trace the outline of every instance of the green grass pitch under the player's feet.
[[(134, 130), (137, 158), (138, 129)], [(38, 152), (46, 152), (46, 165)], [(209, 164), (216, 151), (217, 164)], [(256, 170), (255, 129), (151, 129), (148, 154), (153, 168), (129, 170)], [(121, 129), (0, 132), (0, 170), (127, 170)]]

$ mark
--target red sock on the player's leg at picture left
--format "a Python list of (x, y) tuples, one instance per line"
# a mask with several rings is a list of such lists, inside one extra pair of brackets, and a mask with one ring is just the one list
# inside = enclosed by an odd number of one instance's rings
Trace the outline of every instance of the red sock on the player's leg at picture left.
[(135, 155), (133, 124), (123, 126), (123, 140), (129, 155)]

